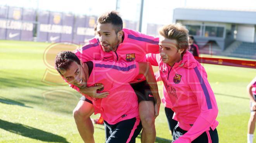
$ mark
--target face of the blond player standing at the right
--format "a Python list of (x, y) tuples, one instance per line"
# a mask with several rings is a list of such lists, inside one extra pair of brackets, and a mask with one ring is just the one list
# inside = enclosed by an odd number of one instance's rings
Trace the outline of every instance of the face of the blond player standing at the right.
[(181, 54), (177, 46), (177, 40), (167, 39), (163, 36), (160, 37), (159, 52), (164, 63), (171, 64), (180, 59)]

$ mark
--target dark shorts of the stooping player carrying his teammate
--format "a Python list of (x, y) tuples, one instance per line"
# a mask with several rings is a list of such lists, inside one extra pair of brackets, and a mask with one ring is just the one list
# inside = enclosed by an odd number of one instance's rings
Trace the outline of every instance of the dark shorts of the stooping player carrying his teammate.
[(116, 124), (104, 121), (106, 143), (135, 143), (135, 138), (142, 130), (139, 118), (126, 119)]

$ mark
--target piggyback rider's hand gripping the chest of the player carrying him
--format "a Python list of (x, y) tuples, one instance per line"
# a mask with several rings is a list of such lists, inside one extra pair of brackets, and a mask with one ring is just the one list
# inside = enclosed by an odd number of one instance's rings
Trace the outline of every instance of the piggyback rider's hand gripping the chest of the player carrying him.
[(97, 93), (97, 89), (101, 89), (103, 87), (103, 85), (85, 87), (84, 89), (80, 89), (80, 93), (86, 94), (92, 98), (106, 98), (109, 95), (108, 92)]

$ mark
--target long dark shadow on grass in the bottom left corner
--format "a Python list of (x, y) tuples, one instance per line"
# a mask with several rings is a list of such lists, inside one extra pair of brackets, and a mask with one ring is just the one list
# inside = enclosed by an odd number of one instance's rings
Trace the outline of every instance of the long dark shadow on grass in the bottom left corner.
[(28, 138), (33, 138), (40, 141), (68, 143), (66, 138), (63, 138), (62, 136), (48, 133), (46, 131), (26, 126), (24, 124), (3, 121), (2, 119), (0, 119), (0, 128), (21, 136), (26, 136)]

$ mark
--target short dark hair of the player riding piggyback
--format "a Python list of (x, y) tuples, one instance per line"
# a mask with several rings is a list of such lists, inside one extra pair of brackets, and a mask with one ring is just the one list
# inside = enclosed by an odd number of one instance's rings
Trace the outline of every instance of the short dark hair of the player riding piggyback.
[(112, 24), (114, 26), (116, 34), (123, 30), (123, 20), (116, 11), (111, 11), (100, 15), (97, 24)]

